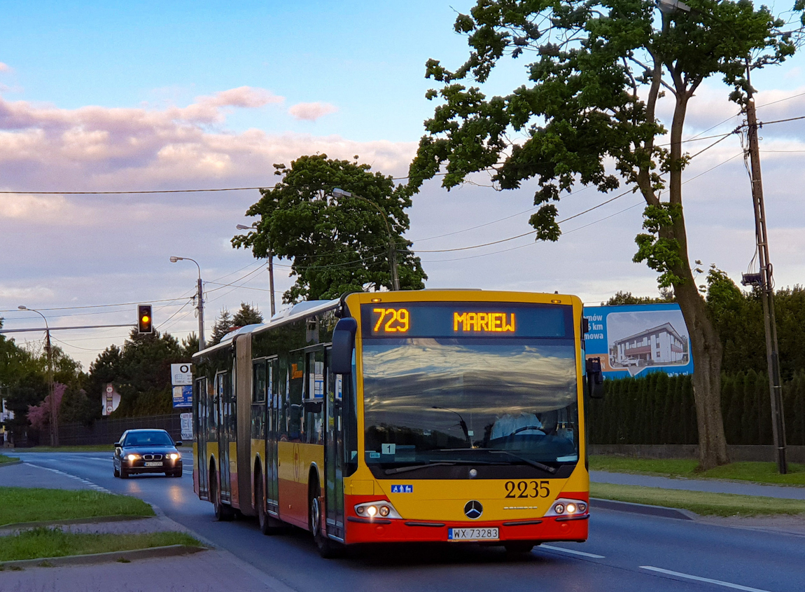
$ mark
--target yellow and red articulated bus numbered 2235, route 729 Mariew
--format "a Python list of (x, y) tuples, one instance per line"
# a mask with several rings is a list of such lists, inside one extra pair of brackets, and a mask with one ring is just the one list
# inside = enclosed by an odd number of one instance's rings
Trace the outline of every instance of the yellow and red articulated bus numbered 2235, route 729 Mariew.
[(588, 536), (576, 296), (423, 290), (296, 304), (193, 356), (194, 489), (218, 520), (344, 545), (511, 552)]

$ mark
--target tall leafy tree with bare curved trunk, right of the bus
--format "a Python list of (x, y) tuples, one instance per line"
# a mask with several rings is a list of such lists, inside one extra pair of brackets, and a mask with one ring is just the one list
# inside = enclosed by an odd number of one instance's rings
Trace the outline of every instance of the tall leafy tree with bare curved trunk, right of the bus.
[[(443, 164), (442, 184), (452, 188), (469, 174), (493, 170), (498, 188), (518, 188), (536, 178), (531, 218), (538, 240), (561, 231), (555, 201), (574, 185), (611, 192), (622, 181), (646, 201), (645, 233), (638, 234), (634, 261), (658, 271), (658, 284), (673, 287), (691, 334), (696, 360), (700, 462), (705, 469), (728, 462), (719, 403), (721, 342), (700, 295), (687, 255), (682, 176), (685, 114), (708, 77), (720, 75), (730, 98), (745, 101), (745, 66), (781, 62), (795, 51), (802, 29), (786, 26), (751, 2), (686, 0), (690, 13), (658, 13), (650, 0), (478, 0), (459, 14), (455, 29), (469, 35), (469, 59), (455, 72), (427, 62), (427, 77), (444, 83), (444, 103), (425, 122), (411, 164), (410, 185), (419, 188)], [(803, 0), (790, 14), (799, 15)], [(504, 58), (534, 56), (528, 81), (506, 97), (487, 98), (477, 87)], [(749, 56), (749, 58), (747, 57)], [(673, 106), (670, 144), (658, 103), (669, 93)], [(661, 198), (662, 197), (662, 198)]]

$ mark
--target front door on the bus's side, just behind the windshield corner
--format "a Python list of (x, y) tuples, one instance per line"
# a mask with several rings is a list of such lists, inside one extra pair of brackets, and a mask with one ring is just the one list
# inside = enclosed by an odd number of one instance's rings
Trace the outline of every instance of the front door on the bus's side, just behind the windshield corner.
[(330, 350), (327, 350), (327, 416), (324, 439), (325, 500), (324, 515), (327, 534), (344, 540), (344, 423), (342, 402), (344, 383), (341, 375), (329, 370)]

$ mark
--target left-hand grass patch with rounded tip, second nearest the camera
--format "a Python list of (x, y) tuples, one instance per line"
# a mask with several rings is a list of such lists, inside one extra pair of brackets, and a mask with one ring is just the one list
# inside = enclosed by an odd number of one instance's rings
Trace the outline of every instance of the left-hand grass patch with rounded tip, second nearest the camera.
[(127, 495), (91, 490), (0, 487), (0, 526), (114, 515), (152, 516), (154, 511), (142, 499)]

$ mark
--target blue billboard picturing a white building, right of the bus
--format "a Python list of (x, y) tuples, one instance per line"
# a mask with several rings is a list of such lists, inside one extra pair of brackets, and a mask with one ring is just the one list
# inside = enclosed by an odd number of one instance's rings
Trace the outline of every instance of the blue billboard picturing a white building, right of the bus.
[(601, 358), (606, 378), (693, 373), (691, 342), (679, 304), (585, 306), (588, 358)]

